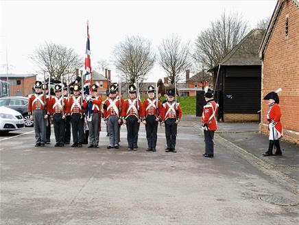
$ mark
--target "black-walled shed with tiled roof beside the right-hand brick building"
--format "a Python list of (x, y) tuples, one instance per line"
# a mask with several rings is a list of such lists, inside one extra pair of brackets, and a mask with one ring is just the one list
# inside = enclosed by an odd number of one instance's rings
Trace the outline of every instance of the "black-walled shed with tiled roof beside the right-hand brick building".
[[(265, 29), (252, 29), (215, 67), (215, 100), (222, 121), (260, 121), (261, 60)], [(218, 73), (219, 71), (219, 73)]]

